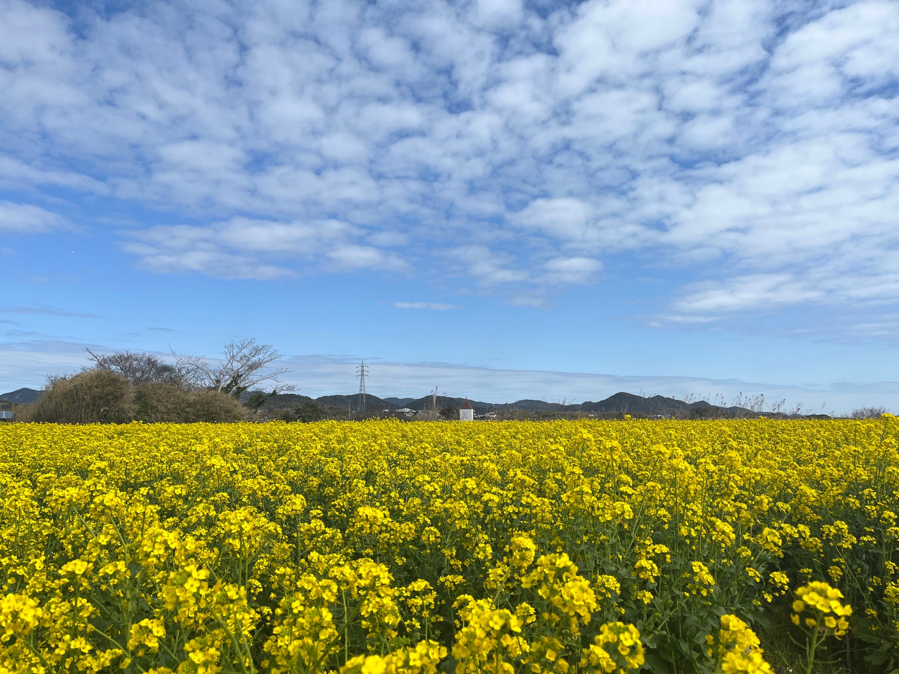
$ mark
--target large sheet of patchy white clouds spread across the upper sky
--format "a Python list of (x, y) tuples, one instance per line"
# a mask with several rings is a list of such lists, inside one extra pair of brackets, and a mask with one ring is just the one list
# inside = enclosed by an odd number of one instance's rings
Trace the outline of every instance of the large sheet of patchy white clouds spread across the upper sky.
[(544, 303), (615, 258), (680, 270), (658, 320), (892, 306), (897, 31), (888, 0), (0, 0), (0, 186), (200, 223), (123, 235), (157, 271)]

